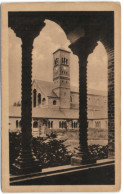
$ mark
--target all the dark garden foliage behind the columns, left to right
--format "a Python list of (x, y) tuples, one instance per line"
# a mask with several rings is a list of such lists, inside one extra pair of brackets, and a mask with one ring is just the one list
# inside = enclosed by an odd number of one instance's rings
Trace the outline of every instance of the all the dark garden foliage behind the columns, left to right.
[[(10, 168), (19, 155), (21, 136), (21, 133), (9, 133)], [(68, 165), (71, 163), (71, 157), (78, 152), (78, 148), (75, 147), (74, 150), (69, 149), (69, 145), (65, 144), (66, 141), (66, 139), (58, 139), (54, 133), (47, 135), (45, 138), (32, 137), (32, 150), (41, 162), (42, 168)], [(90, 156), (95, 160), (108, 157), (108, 145), (89, 145), (88, 150)]]

